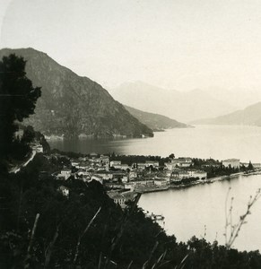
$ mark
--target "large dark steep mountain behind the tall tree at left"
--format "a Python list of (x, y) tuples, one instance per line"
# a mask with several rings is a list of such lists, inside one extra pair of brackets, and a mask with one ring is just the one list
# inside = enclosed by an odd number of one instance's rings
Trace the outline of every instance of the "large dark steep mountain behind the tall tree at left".
[(45, 135), (94, 137), (126, 135), (152, 136), (152, 130), (140, 123), (97, 82), (74, 74), (47, 54), (33, 48), (0, 50), (0, 58), (11, 53), (27, 61), (26, 73), (42, 95), (35, 114), (25, 120)]

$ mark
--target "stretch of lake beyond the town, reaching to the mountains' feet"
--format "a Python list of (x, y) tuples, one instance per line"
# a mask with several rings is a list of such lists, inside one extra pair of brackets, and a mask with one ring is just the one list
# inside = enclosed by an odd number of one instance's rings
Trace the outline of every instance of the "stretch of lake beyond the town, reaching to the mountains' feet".
[(261, 162), (261, 127), (196, 126), (154, 133), (152, 138), (48, 141), (52, 148), (71, 152), (98, 152), (189, 156)]

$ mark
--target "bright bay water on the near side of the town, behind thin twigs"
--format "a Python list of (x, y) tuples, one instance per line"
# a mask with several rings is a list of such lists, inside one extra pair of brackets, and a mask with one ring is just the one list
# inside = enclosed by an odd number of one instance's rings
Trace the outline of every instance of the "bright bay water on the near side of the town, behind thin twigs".
[[(204, 237), (211, 242), (217, 239), (224, 245), (225, 201), (230, 187), (228, 207), (231, 197), (234, 197), (232, 220), (237, 224), (239, 216), (246, 213), (249, 196), (255, 195), (261, 187), (261, 175), (239, 176), (213, 184), (144, 194), (139, 206), (150, 213), (162, 214), (165, 219), (159, 224), (168, 234), (174, 234), (178, 241), (186, 242), (196, 235), (197, 238)], [(247, 221), (233, 247), (261, 251), (261, 199), (253, 205)]]

